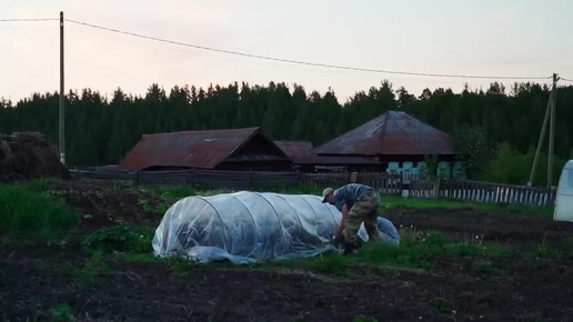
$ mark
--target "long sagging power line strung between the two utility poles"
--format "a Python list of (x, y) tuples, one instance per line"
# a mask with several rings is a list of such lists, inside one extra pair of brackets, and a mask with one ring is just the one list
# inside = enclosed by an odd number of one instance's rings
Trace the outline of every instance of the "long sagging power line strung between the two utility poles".
[(391, 71), (391, 70), (380, 70), (380, 69), (369, 69), (369, 68), (358, 68), (358, 67), (348, 67), (348, 66), (339, 66), (339, 64), (328, 64), (328, 63), (318, 63), (318, 62), (308, 62), (308, 61), (301, 61), (301, 60), (291, 60), (291, 59), (282, 59), (282, 58), (274, 58), (274, 57), (268, 57), (268, 56), (260, 56), (260, 54), (252, 54), (252, 53), (244, 53), (239, 51), (232, 51), (232, 50), (224, 50), (224, 49), (218, 49), (212, 47), (205, 47), (205, 46), (199, 46), (199, 44), (192, 44), (192, 43), (185, 43), (180, 41), (173, 41), (151, 36), (144, 36), (140, 33), (123, 31), (119, 29), (97, 26), (92, 23), (87, 23), (82, 21), (66, 19), (66, 21), (96, 28), (100, 30), (128, 34), (132, 37), (149, 39), (153, 41), (164, 42), (164, 43), (171, 43), (171, 44), (178, 44), (178, 46), (184, 46), (195, 49), (202, 49), (208, 51), (214, 51), (214, 52), (222, 52), (228, 54), (234, 54), (234, 56), (241, 56), (241, 57), (248, 57), (248, 58), (255, 58), (255, 59), (263, 59), (263, 60), (271, 60), (271, 61), (279, 61), (279, 62), (286, 62), (286, 63), (295, 63), (295, 64), (303, 64), (303, 66), (313, 66), (313, 67), (322, 67), (322, 68), (333, 68), (333, 69), (341, 69), (341, 70), (352, 70), (352, 71), (363, 71), (363, 72), (375, 72), (375, 73), (389, 73), (389, 74), (402, 74), (402, 76), (418, 76), (418, 77), (438, 77), (438, 78), (464, 78), (464, 79), (505, 79), (505, 80), (534, 80), (534, 79), (550, 79), (551, 77), (509, 77), (509, 76), (470, 76), (470, 74), (445, 74), (445, 73), (423, 73), (423, 72), (408, 72), (408, 71)]

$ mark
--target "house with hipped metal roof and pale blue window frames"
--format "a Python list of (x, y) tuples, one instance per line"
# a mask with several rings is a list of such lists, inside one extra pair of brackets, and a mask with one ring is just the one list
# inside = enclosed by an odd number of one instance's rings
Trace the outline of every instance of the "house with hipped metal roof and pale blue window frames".
[[(436, 155), (440, 169), (455, 160), (453, 139), (402, 111), (384, 114), (312, 150), (308, 160), (295, 164), (342, 165), (351, 171), (386, 171), (403, 173), (403, 170), (425, 168), (424, 160)], [(314, 159), (314, 160), (313, 160)], [(308, 161), (308, 162), (306, 162)], [(305, 164), (303, 164), (306, 162)], [(445, 165), (444, 165), (445, 164)], [(439, 170), (440, 171), (440, 170)], [(444, 170), (445, 171), (445, 170)]]

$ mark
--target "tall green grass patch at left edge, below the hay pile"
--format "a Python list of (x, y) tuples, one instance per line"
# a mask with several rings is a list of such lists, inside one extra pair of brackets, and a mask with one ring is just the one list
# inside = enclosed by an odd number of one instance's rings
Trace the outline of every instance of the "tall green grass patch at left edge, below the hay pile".
[(63, 201), (39, 192), (47, 182), (0, 185), (0, 234), (54, 239), (80, 223)]

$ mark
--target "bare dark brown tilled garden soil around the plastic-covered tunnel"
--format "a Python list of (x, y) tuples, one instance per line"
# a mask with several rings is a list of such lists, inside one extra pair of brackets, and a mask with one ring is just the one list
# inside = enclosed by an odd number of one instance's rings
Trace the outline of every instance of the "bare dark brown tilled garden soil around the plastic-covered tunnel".
[[(80, 231), (115, 222), (161, 220), (151, 209), (165, 200), (139, 189), (70, 181), (52, 193), (89, 214)], [(141, 200), (149, 200), (143, 203)], [(394, 209), (398, 227), (439, 230), (459, 239), (525, 249), (559, 243), (573, 225), (541, 215), (470, 209)], [(298, 269), (173, 270), (165, 263), (105, 259), (109, 273), (83, 283), (67, 273), (87, 254), (78, 242), (10, 243), (0, 250), (0, 316), (49, 321), (68, 303), (79, 321), (573, 321), (573, 260), (521, 256), (440, 260), (428, 270), (380, 268), (351, 278)], [(493, 271), (480, 272), (486, 264)]]

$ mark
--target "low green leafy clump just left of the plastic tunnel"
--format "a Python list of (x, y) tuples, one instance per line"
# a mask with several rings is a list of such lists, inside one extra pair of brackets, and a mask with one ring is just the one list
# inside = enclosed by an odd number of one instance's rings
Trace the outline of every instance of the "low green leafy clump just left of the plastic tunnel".
[(151, 250), (153, 230), (149, 227), (133, 227), (121, 223), (102, 228), (83, 240), (89, 251), (147, 253)]

